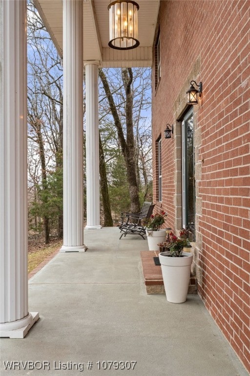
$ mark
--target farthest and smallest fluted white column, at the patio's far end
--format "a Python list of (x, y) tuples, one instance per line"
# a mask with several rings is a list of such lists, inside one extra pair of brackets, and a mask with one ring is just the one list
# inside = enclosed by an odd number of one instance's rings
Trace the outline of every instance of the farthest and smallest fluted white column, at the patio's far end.
[(86, 87), (86, 229), (101, 229), (99, 184), (98, 61), (84, 62)]

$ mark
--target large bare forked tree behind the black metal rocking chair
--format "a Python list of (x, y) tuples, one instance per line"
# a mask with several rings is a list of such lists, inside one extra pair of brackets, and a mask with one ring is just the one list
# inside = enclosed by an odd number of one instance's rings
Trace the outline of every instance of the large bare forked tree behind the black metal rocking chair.
[[(147, 97), (145, 94), (150, 89), (150, 79), (148, 78), (150, 74), (145, 74), (145, 71), (141, 69), (137, 69), (135, 72), (136, 76), (133, 77), (133, 71), (130, 68), (123, 68), (120, 72), (113, 70), (111, 73), (99, 69), (99, 76), (108, 101), (109, 114), (112, 115), (119, 147), (125, 158), (131, 211), (140, 210), (139, 153), (142, 146), (142, 141), (139, 141), (141, 138), (140, 124), (145, 116), (142, 115), (142, 112), (145, 112), (150, 106), (150, 95), (147, 94)], [(118, 80), (119, 75), (120, 81)], [(135, 79), (137, 84), (135, 84)], [(135, 88), (136, 86), (137, 88)], [(149, 138), (151, 138), (151, 131)], [(145, 164), (143, 165), (145, 166)]]

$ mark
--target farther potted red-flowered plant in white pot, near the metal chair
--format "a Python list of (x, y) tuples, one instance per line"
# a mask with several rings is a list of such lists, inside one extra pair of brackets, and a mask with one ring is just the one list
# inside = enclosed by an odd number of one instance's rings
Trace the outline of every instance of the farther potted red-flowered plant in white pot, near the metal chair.
[(160, 229), (166, 216), (166, 211), (162, 211), (161, 214), (152, 214), (144, 220), (149, 251), (159, 251), (158, 243), (164, 242), (166, 239), (166, 229)]

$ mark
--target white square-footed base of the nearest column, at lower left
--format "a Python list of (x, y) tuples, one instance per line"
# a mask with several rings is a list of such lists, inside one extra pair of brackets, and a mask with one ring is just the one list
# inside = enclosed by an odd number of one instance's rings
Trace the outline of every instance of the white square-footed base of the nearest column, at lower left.
[(38, 312), (29, 312), (27, 316), (21, 320), (0, 324), (0, 337), (24, 338), (38, 319)]

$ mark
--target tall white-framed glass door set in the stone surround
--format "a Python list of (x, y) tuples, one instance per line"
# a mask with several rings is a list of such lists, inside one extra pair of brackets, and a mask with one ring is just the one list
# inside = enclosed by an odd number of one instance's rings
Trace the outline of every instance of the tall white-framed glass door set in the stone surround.
[(195, 240), (195, 162), (193, 112), (182, 121), (182, 225)]

